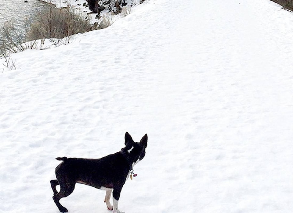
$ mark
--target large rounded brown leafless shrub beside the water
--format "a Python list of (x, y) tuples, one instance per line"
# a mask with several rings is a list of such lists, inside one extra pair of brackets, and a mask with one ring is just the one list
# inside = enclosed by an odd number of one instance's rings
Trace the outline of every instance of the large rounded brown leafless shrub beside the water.
[(27, 32), (27, 40), (63, 38), (90, 30), (93, 29), (89, 19), (81, 16), (73, 6), (62, 9), (50, 6), (38, 12)]

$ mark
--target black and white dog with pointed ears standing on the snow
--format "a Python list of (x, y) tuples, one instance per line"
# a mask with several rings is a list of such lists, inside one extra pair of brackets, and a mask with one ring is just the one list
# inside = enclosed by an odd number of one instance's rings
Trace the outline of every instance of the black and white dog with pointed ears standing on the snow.
[[(53, 200), (60, 212), (68, 212), (67, 208), (60, 204), (62, 197), (70, 195), (75, 183), (81, 183), (95, 188), (106, 190), (104, 202), (108, 210), (115, 213), (123, 213), (118, 210), (118, 201), (125, 181), (129, 175), (132, 179), (133, 166), (141, 161), (146, 154), (147, 134), (140, 142), (134, 142), (128, 132), (125, 133), (125, 147), (121, 151), (107, 155), (99, 159), (86, 158), (56, 158), (63, 161), (56, 169), (56, 180), (51, 180), (54, 193)], [(56, 186), (60, 185), (60, 192)], [(113, 192), (113, 193), (112, 193)], [(110, 204), (111, 193), (113, 206)]]

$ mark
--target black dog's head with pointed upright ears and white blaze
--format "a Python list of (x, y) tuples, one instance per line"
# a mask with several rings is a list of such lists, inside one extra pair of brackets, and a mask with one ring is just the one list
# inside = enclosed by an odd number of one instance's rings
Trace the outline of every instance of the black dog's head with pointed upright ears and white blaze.
[(129, 156), (133, 164), (137, 164), (146, 154), (147, 134), (143, 136), (140, 142), (134, 142), (128, 132), (125, 133), (125, 147), (121, 150)]

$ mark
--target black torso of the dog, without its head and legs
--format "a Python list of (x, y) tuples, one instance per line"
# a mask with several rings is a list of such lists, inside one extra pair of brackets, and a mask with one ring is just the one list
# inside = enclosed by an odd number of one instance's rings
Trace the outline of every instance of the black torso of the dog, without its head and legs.
[(62, 160), (56, 169), (57, 180), (82, 183), (95, 188), (113, 188), (128, 175), (128, 162), (120, 152), (99, 159), (56, 158)]

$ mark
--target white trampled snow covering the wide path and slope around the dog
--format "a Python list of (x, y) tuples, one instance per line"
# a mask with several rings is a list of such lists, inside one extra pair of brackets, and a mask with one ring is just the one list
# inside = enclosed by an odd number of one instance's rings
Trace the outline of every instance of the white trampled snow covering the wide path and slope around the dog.
[[(293, 14), (269, 0), (148, 0), (0, 74), (0, 212), (58, 212), (56, 157), (148, 134), (130, 212), (291, 212)], [(0, 65), (4, 62), (1, 59)], [(109, 212), (77, 184), (69, 212)], [(112, 202), (112, 199), (111, 199)]]

